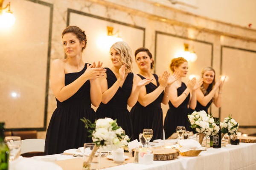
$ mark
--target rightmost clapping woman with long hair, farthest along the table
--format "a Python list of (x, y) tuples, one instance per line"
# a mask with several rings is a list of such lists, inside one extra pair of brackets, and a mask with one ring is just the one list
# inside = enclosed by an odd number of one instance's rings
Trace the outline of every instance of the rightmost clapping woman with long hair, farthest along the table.
[(222, 86), (225, 79), (219, 79), (218, 82), (215, 82), (215, 70), (212, 67), (203, 68), (202, 79), (203, 84), (196, 91), (197, 104), (195, 111), (206, 111), (208, 113), (208, 108), (212, 102), (217, 108), (221, 107)]

